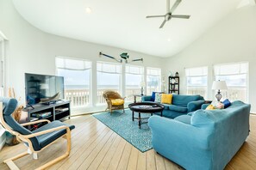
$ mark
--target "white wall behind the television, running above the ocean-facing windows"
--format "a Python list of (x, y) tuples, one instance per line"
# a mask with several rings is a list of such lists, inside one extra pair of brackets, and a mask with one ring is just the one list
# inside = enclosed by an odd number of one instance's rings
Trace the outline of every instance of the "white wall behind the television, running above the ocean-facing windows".
[[(9, 0), (0, 0), (0, 30), (9, 39), (6, 88), (15, 88), (16, 97), (21, 96), (23, 103), (25, 102), (24, 73), (55, 75), (56, 56), (89, 59), (96, 68), (98, 60), (113, 62), (109, 58), (99, 58), (99, 52), (113, 56), (128, 52), (131, 58), (144, 58), (143, 64), (137, 64), (161, 67), (162, 59), (153, 56), (43, 33), (24, 21)], [(93, 76), (95, 77), (96, 73)], [(92, 87), (96, 87), (96, 78), (93, 80)]]

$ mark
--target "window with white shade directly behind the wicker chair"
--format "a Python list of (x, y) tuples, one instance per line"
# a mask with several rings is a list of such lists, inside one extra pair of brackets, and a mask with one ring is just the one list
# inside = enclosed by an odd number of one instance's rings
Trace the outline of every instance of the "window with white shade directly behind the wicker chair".
[(121, 93), (122, 65), (97, 62), (97, 104), (106, 103), (103, 91), (112, 89)]

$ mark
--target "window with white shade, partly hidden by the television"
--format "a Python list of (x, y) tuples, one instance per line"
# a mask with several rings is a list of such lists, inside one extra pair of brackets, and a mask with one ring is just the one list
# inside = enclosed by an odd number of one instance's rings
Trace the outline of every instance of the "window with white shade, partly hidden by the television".
[(56, 68), (64, 76), (65, 98), (72, 101), (72, 107), (91, 105), (91, 62), (57, 57)]

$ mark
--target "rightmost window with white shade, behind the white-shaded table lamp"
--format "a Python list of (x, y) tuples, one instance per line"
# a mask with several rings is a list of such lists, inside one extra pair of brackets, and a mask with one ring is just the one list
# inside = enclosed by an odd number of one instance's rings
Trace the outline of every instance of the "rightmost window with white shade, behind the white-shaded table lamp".
[(215, 80), (226, 81), (228, 86), (222, 99), (248, 101), (248, 67), (247, 62), (214, 66)]

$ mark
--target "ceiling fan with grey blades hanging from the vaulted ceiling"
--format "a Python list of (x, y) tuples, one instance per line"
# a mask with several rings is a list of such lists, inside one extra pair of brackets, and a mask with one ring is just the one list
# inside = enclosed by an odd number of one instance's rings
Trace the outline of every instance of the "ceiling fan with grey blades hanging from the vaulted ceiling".
[(172, 18), (182, 18), (189, 19), (190, 15), (172, 15), (173, 11), (178, 7), (178, 4), (181, 3), (181, 0), (176, 0), (172, 8), (170, 8), (170, 0), (166, 0), (166, 14), (165, 15), (149, 15), (146, 18), (155, 18), (155, 17), (165, 17), (165, 20), (162, 22), (159, 28), (164, 27), (165, 22), (171, 20)]

